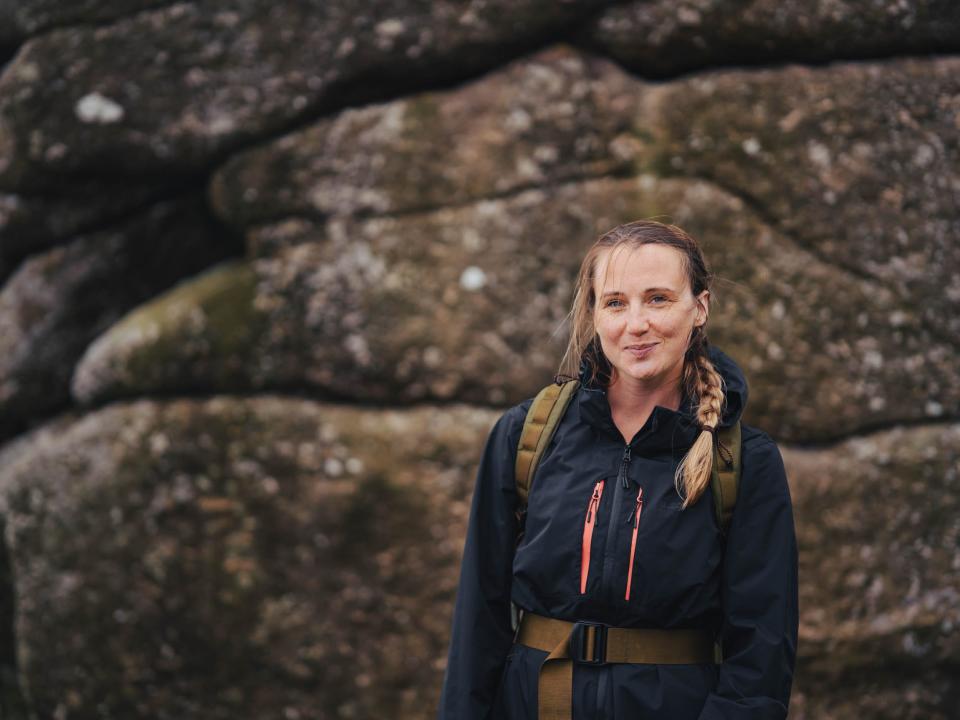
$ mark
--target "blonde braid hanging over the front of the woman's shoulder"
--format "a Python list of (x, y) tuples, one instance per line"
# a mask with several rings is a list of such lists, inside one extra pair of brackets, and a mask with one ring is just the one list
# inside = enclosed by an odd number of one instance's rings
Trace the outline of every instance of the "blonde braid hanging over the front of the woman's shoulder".
[(683, 507), (686, 508), (695, 503), (710, 484), (714, 432), (723, 412), (723, 378), (707, 357), (706, 339), (702, 333), (692, 339), (684, 380), (690, 394), (699, 402), (697, 423), (701, 427), (674, 477), (677, 492), (684, 498)]

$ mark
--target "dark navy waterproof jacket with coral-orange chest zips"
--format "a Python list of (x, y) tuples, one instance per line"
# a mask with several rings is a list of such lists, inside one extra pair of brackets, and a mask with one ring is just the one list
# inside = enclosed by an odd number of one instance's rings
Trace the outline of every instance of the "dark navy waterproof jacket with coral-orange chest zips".
[[(710, 357), (726, 383), (721, 425), (730, 425), (746, 404), (746, 383), (726, 355), (711, 349)], [(606, 392), (585, 381), (582, 375), (533, 478), (519, 544), (514, 464), (531, 400), (508, 410), (490, 433), (439, 720), (536, 720), (548, 653), (514, 643), (511, 599), (563, 620), (706, 628), (722, 641), (720, 665), (574, 665), (573, 720), (785, 718), (797, 647), (797, 546), (777, 446), (741, 426), (738, 499), (724, 534), (709, 488), (681, 510), (674, 487), (677, 464), (699, 430), (690, 401), (676, 411), (656, 407), (627, 443)]]

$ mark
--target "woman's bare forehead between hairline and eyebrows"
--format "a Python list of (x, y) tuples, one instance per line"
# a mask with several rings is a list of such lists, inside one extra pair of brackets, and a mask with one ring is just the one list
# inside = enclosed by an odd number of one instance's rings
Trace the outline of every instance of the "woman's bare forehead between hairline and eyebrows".
[(689, 287), (683, 253), (669, 245), (638, 247), (618, 245), (597, 258), (594, 291), (629, 292), (646, 288), (670, 288), (678, 292)]

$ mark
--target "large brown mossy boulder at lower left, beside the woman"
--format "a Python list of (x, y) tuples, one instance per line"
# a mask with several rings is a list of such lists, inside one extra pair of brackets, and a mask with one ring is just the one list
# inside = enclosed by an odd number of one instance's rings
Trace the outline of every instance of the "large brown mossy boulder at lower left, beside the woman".
[(432, 716), (493, 419), (138, 401), (9, 445), (37, 716)]

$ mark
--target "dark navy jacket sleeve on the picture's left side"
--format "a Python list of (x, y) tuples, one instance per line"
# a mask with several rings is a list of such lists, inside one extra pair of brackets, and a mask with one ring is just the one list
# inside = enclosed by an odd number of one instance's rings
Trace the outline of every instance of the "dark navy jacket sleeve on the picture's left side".
[(497, 421), (480, 460), (438, 720), (489, 717), (513, 644), (510, 585), (517, 538), (514, 465), (525, 414), (525, 406), (517, 406)]

